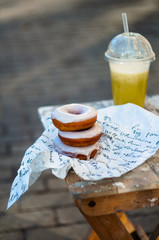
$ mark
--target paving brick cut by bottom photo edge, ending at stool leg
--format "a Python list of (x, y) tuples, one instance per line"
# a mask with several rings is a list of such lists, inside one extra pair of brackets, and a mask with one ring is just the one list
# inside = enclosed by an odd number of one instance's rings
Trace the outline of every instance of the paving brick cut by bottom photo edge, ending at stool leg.
[(88, 224), (76, 224), (65, 227), (55, 227), (28, 231), (28, 240), (83, 240), (89, 235)]

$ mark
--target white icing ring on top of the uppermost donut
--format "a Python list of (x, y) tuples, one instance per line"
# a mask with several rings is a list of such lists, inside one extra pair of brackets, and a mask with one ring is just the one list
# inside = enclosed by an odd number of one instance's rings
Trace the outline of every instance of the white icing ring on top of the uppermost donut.
[(62, 123), (80, 122), (97, 116), (97, 110), (83, 104), (67, 104), (52, 112), (51, 118)]

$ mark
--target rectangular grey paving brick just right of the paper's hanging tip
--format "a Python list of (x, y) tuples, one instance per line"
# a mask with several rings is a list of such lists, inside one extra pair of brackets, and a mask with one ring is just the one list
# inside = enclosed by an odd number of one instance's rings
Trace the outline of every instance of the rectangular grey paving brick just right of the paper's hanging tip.
[(21, 198), (22, 210), (58, 206), (62, 207), (69, 204), (73, 204), (73, 200), (68, 192), (25, 194)]

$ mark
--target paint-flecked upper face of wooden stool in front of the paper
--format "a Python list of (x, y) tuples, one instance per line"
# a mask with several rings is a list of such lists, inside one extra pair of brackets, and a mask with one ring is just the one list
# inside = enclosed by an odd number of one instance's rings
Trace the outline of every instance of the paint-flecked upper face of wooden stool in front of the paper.
[(159, 155), (156, 154), (144, 164), (119, 178), (84, 181), (71, 172), (66, 177), (66, 182), (73, 197), (78, 199), (159, 190)]

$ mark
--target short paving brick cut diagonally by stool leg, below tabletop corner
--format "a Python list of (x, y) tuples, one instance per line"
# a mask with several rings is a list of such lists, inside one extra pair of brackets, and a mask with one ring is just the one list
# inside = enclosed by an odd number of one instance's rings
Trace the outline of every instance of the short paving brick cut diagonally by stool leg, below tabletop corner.
[(74, 207), (57, 208), (57, 221), (59, 224), (74, 224), (77, 222), (86, 222), (79, 210)]

